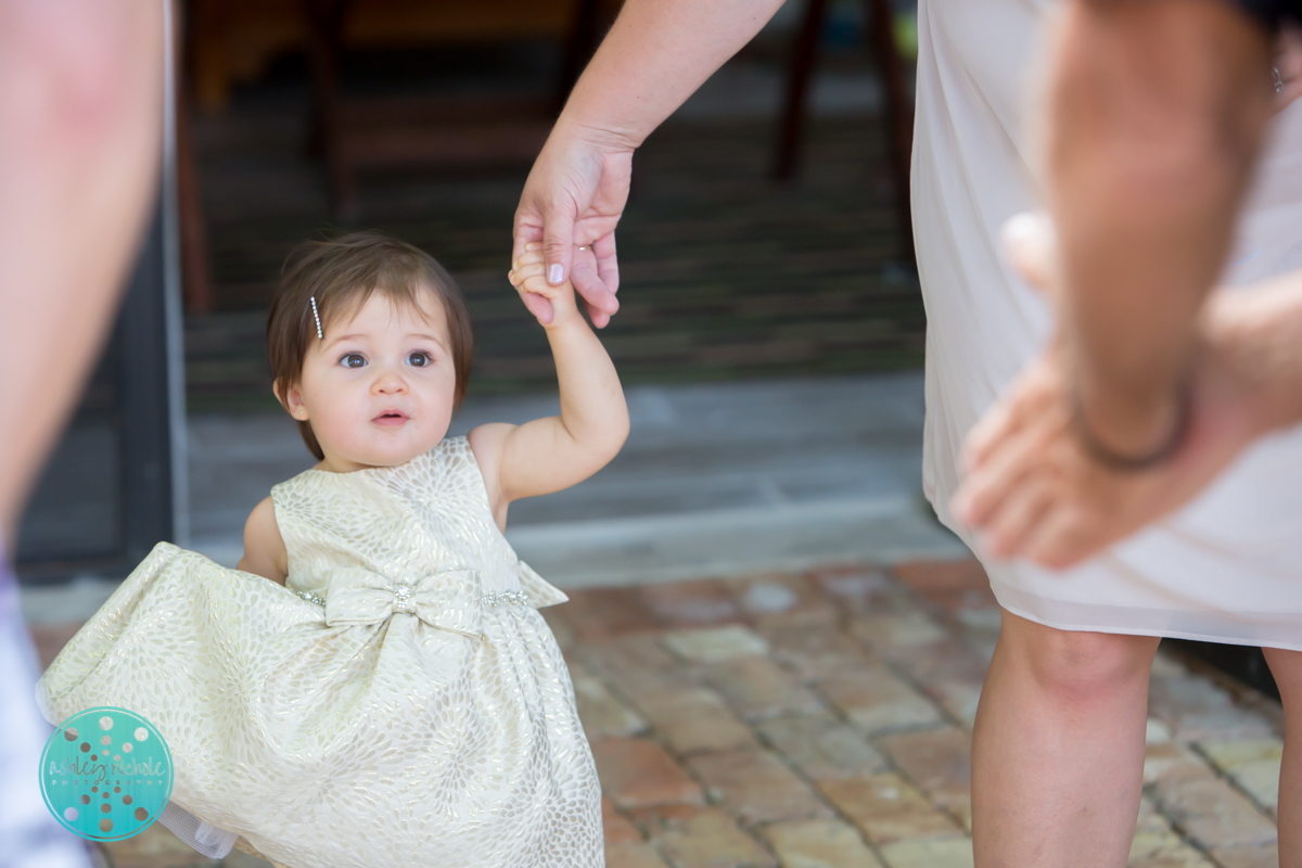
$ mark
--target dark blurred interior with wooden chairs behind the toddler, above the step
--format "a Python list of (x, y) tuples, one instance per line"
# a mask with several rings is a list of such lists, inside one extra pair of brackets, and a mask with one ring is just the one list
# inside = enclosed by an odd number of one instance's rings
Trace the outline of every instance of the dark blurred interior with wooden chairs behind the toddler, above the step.
[[(823, 56), (789, 178), (775, 169), (806, 12), (797, 0), (638, 152), (618, 232), (625, 307), (603, 334), (626, 383), (921, 363), (866, 4), (819, 5)], [(186, 213), (203, 236), (187, 247), (193, 410), (272, 406), (262, 328), (285, 254), (353, 226), (421, 245), (460, 280), (477, 393), (549, 388), (543, 334), (505, 280), (510, 219), (615, 10), (592, 0), (309, 8), (340, 17), (333, 36), (297, 0), (193, 7), (198, 190)]]

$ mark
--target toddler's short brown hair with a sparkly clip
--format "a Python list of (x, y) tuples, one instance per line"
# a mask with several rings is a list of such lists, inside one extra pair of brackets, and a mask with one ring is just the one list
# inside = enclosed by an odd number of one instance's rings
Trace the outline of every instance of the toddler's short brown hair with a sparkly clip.
[[(324, 327), (333, 316), (355, 312), (375, 292), (417, 311), (422, 310), (422, 293), (431, 293), (443, 303), (452, 338), (448, 349), (457, 372), (453, 411), (460, 409), (474, 353), (470, 314), (461, 289), (434, 256), (378, 232), (306, 241), (285, 259), (267, 318), (267, 360), (277, 397), (284, 401), (285, 393), (298, 385), (307, 347), (318, 340), (311, 299), (316, 299)], [(299, 422), (298, 431), (307, 449), (323, 459), (326, 454), (311, 423)]]

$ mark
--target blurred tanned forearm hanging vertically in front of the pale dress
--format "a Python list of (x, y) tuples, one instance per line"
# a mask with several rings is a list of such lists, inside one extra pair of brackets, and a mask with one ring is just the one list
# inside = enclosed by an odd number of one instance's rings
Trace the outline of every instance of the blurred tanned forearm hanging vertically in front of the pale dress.
[(1048, 98), (1064, 332), (1088, 424), (1142, 454), (1169, 436), (1198, 311), (1269, 117), (1264, 30), (1219, 0), (1078, 0)]

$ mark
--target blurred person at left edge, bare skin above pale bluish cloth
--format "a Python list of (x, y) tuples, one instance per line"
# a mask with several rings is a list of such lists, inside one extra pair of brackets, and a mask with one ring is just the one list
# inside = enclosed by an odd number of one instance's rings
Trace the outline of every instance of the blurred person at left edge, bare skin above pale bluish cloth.
[[(163, 0), (0, 0), (0, 563), (152, 202)], [(12, 545), (12, 543), (10, 543)], [(36, 657), (0, 566), (0, 865), (85, 864), (46, 808)]]

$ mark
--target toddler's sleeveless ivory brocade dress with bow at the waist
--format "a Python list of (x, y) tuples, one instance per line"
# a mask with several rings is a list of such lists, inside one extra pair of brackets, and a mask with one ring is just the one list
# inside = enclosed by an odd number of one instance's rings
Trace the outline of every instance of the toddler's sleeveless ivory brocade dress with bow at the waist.
[(142, 714), (172, 804), (289, 868), (600, 868), (596, 768), (538, 612), (568, 597), (497, 530), (466, 439), (272, 502), (285, 586), (160, 543), (40, 679), (46, 718)]

